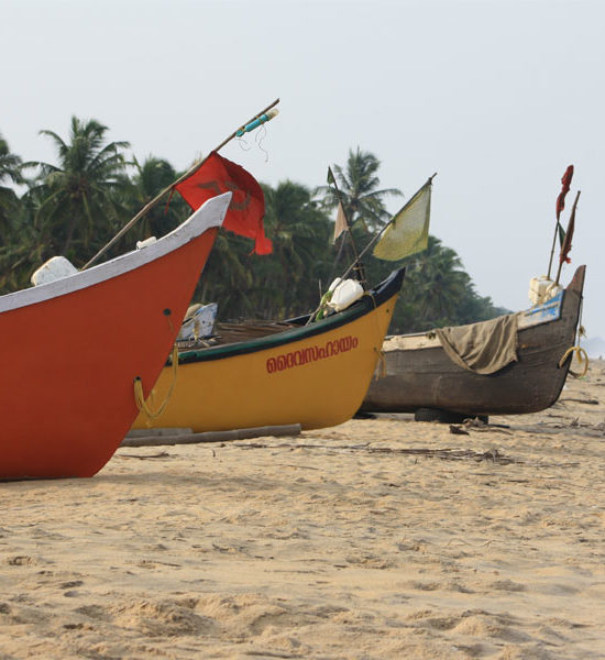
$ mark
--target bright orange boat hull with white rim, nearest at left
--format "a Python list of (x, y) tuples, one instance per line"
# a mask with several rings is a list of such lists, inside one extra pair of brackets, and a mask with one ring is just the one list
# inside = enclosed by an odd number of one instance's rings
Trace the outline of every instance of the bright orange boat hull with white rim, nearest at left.
[(166, 362), (231, 194), (145, 248), (0, 297), (0, 479), (91, 476)]

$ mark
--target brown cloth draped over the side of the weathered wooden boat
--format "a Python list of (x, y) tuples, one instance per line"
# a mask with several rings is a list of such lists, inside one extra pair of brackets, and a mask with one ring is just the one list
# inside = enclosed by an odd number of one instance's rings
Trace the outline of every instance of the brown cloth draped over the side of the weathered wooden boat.
[(488, 375), (517, 362), (518, 316), (509, 314), (481, 323), (439, 328), (435, 332), (455, 364)]

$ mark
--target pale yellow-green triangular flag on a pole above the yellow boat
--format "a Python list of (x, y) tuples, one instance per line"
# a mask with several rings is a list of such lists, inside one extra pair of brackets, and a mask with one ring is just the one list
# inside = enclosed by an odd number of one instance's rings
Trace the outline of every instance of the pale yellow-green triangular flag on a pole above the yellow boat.
[(397, 261), (426, 250), (429, 241), (431, 183), (397, 212), (374, 248), (374, 256)]

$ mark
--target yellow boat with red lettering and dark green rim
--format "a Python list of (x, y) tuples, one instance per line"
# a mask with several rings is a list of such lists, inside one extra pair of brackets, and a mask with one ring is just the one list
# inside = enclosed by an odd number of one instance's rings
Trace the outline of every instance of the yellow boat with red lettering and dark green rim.
[(351, 307), (309, 324), (299, 317), (274, 334), (179, 351), (177, 369), (164, 367), (147, 400), (150, 409), (165, 404), (163, 413), (151, 419), (143, 410), (133, 428), (318, 429), (346, 421), (382, 356), (403, 278), (396, 271)]

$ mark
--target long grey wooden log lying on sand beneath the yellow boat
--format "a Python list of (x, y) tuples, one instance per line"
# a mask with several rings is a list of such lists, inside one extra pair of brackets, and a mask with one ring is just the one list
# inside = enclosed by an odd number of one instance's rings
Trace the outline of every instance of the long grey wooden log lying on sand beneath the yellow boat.
[(264, 436), (298, 436), (299, 424), (284, 426), (233, 429), (232, 431), (207, 431), (194, 433), (191, 429), (139, 429), (131, 431), (120, 447), (157, 447), (162, 444), (199, 444), (200, 442), (227, 442)]

